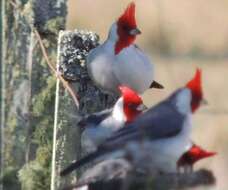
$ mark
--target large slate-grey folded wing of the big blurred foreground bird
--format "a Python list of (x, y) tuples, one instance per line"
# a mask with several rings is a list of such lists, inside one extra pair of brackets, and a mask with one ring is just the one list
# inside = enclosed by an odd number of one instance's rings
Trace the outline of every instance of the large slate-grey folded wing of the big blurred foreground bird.
[(164, 101), (141, 114), (133, 123), (113, 133), (101, 149), (112, 149), (127, 141), (149, 138), (157, 140), (177, 135), (183, 126), (185, 116), (180, 114), (172, 101)]

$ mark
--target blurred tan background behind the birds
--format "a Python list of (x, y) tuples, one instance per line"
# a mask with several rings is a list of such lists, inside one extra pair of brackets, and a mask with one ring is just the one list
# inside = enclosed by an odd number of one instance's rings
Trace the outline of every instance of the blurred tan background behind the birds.
[[(101, 41), (122, 14), (127, 0), (69, 0), (68, 29), (96, 31)], [(193, 140), (218, 155), (197, 163), (217, 177), (213, 190), (228, 188), (228, 0), (135, 0), (142, 35), (136, 43), (155, 63), (156, 80), (164, 90), (148, 91), (153, 105), (183, 86), (197, 67), (209, 105), (194, 116)], [(202, 189), (202, 188), (199, 188)], [(205, 187), (203, 188), (205, 189)]]

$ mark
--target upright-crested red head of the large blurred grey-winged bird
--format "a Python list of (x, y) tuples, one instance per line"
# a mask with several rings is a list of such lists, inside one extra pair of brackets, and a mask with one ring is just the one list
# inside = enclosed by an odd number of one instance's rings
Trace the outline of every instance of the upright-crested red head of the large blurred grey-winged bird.
[(194, 78), (186, 84), (186, 87), (191, 90), (191, 93), (192, 93), (191, 108), (192, 108), (192, 112), (195, 112), (197, 108), (199, 108), (200, 103), (203, 100), (200, 69), (196, 70)]

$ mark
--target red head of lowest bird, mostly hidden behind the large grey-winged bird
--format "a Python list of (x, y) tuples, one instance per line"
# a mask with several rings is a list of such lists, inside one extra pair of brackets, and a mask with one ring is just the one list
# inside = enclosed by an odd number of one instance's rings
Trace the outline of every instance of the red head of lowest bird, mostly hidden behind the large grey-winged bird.
[(180, 172), (181, 168), (184, 169), (184, 172), (192, 172), (193, 165), (204, 158), (208, 158), (216, 155), (216, 152), (208, 152), (202, 149), (200, 146), (193, 144), (189, 150), (187, 150), (177, 162), (177, 170)]

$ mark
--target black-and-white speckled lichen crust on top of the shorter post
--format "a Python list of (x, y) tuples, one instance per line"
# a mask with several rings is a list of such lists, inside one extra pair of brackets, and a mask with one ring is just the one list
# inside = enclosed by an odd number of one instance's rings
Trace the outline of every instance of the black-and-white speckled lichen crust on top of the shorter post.
[(60, 35), (59, 72), (70, 81), (88, 78), (85, 60), (89, 51), (99, 45), (99, 36), (84, 30), (64, 31)]

